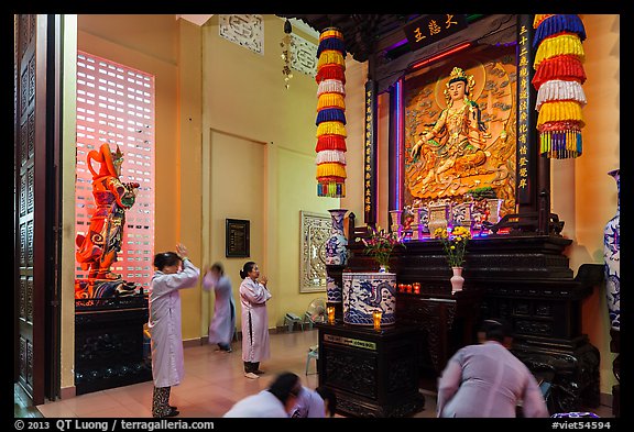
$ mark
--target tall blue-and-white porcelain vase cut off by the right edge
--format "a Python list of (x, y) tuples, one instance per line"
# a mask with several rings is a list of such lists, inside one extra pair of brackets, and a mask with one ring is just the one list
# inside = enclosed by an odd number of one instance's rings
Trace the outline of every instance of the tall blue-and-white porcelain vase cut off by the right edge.
[(610, 325), (621, 330), (621, 177), (620, 169), (608, 173), (616, 180), (616, 214), (603, 230), (603, 261), (605, 263), (605, 293)]

